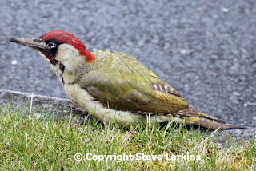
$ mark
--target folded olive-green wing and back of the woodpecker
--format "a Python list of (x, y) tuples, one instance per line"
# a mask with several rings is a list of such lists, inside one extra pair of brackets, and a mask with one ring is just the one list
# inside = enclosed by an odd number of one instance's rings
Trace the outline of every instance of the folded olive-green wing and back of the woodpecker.
[(98, 51), (82, 89), (110, 109), (177, 113), (188, 103), (182, 95), (128, 54)]

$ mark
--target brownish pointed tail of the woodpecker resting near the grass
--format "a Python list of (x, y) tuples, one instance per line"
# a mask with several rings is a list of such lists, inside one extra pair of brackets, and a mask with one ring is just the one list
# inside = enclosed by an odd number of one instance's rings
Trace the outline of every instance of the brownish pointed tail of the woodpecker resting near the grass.
[(200, 110), (195, 109), (192, 105), (187, 109), (180, 110), (178, 117), (182, 117), (187, 124), (200, 125), (209, 129), (245, 129), (245, 126), (226, 124), (217, 118), (210, 117)]

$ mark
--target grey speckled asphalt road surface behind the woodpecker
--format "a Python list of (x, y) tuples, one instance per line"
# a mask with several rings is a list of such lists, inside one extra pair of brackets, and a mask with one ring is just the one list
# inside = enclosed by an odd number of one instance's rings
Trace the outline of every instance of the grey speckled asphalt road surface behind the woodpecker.
[(76, 35), (88, 50), (134, 55), (202, 112), (256, 125), (256, 2), (0, 2), (0, 88), (67, 97), (50, 66), (9, 38), (51, 30)]

